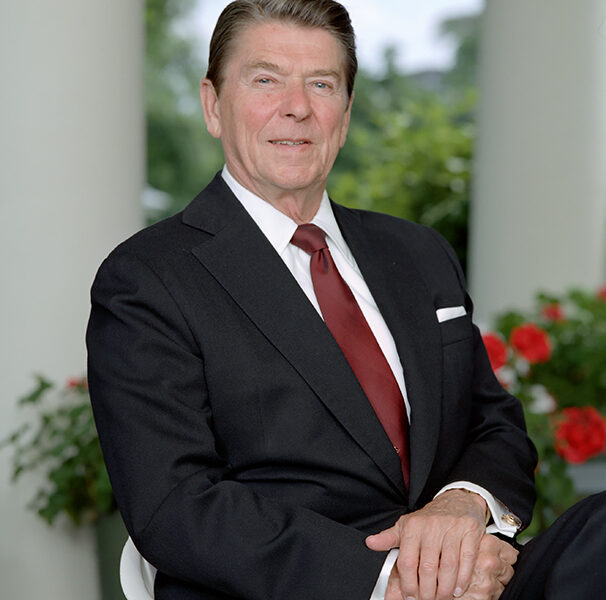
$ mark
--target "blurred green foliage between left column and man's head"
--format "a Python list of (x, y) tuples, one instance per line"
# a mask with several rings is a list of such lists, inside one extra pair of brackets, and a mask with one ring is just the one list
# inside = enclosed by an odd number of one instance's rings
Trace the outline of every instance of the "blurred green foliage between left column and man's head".
[(194, 7), (193, 0), (146, 1), (147, 178), (172, 198), (154, 220), (185, 206), (223, 164), (198, 101), (203, 53), (183, 27)]

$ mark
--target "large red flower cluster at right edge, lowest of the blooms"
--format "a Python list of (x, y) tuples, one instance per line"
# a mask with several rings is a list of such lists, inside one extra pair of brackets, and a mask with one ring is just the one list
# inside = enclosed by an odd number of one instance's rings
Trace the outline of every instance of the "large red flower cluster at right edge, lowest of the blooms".
[(565, 408), (554, 436), (560, 456), (582, 463), (606, 449), (606, 419), (593, 406)]

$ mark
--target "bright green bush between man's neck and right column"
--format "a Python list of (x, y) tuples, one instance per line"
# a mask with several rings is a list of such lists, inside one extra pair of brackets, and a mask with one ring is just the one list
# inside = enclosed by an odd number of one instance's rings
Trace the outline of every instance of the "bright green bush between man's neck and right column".
[(331, 175), (331, 196), (437, 229), (465, 265), (475, 95), (456, 104), (413, 96), (399, 107), (368, 110), (367, 121), (352, 119), (349, 168)]

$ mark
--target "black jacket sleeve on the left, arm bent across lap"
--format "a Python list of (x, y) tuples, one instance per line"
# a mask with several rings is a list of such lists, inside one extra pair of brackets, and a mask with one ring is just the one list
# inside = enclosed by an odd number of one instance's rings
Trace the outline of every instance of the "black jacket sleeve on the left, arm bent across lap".
[(140, 258), (118, 251), (101, 266), (87, 345), (114, 494), (160, 572), (250, 600), (370, 597), (386, 555), (362, 532), (235, 480), (213, 434), (204, 356)]

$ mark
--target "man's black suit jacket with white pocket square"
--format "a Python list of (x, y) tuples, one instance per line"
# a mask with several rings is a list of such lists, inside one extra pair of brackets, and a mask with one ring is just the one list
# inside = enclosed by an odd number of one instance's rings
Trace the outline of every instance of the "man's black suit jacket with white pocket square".
[[(91, 398), (160, 600), (367, 600), (385, 555), (365, 535), (456, 480), (530, 519), (534, 449), (452, 250), (425, 227), (334, 211), (404, 368), (409, 493), (338, 345), (220, 176), (99, 270)], [(467, 316), (438, 323), (458, 305)]]

